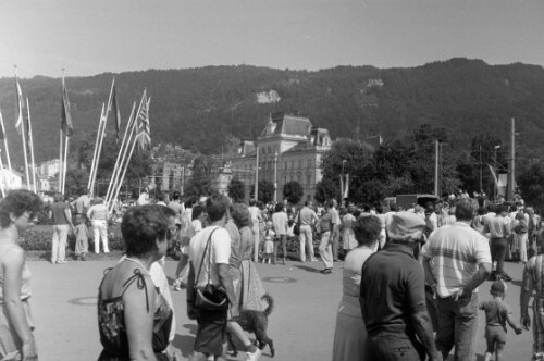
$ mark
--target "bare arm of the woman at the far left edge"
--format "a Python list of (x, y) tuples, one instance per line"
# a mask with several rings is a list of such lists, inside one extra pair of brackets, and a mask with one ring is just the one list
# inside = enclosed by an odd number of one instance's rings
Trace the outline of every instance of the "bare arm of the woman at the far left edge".
[(30, 326), (26, 320), (23, 302), (21, 301), (21, 283), (23, 276), (24, 251), (13, 248), (4, 252), (2, 271), (4, 277), (3, 298), (10, 328), (15, 332), (23, 343), (23, 360), (38, 360), (38, 350)]

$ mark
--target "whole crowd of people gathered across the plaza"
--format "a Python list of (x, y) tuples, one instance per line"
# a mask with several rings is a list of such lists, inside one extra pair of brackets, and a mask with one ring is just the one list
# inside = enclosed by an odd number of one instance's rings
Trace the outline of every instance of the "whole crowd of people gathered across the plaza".
[[(172, 198), (172, 200), (170, 200)], [(482, 201), (483, 200), (483, 201)], [(11, 191), (0, 202), (0, 359), (37, 360), (29, 308), (30, 273), (20, 233), (42, 208), (27, 190)], [(85, 260), (88, 229), (95, 252), (108, 248), (111, 214), (100, 198), (85, 194), (67, 202), (57, 195), (52, 220), (51, 262), (66, 262), (66, 235), (76, 235), (75, 254)], [(343, 259), (343, 295), (337, 309), (333, 361), (440, 360), (454, 350), (456, 360), (472, 360), (478, 313), (486, 320), (485, 360), (500, 360), (506, 326), (516, 334), (531, 327), (528, 306), (533, 291), (534, 358), (544, 357), (544, 241), (541, 219), (518, 199), (491, 203), (460, 192), (436, 203), (338, 206), (331, 199), (314, 207), (287, 202), (232, 203), (221, 195), (189, 197), (178, 192), (153, 202), (119, 208), (125, 256), (109, 270), (99, 287), (98, 324), (103, 351), (99, 360), (175, 360), (175, 312), (164, 273), (170, 252), (180, 258), (173, 290), (186, 288), (187, 315), (198, 324), (191, 360), (225, 359), (226, 334), (258, 360), (242, 327), (240, 312), (267, 312), (270, 295), (256, 262), (285, 264), (287, 244), (300, 262), (316, 262), (322, 274)], [(289, 248), (290, 249), (290, 248)], [(520, 297), (521, 326), (504, 302), (505, 260), (524, 264)], [(491, 299), (479, 287), (492, 279)], [(270, 345), (272, 346), (272, 345)]]

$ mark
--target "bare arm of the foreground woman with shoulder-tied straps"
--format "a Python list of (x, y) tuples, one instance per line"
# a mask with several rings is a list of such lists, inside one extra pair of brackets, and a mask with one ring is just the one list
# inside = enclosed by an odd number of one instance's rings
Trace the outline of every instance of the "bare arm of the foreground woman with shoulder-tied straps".
[[(157, 361), (152, 345), (157, 291), (151, 278), (145, 278), (145, 281), (147, 287), (144, 289), (139, 289), (138, 282), (134, 282), (123, 295), (131, 361)], [(149, 310), (147, 309), (148, 304)]]

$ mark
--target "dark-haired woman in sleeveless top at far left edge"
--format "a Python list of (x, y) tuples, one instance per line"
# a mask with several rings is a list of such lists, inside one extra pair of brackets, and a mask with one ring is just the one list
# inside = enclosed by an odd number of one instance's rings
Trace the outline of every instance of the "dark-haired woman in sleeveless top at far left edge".
[(30, 271), (17, 241), (40, 208), (39, 197), (24, 189), (10, 191), (0, 202), (0, 360), (38, 360), (28, 303)]

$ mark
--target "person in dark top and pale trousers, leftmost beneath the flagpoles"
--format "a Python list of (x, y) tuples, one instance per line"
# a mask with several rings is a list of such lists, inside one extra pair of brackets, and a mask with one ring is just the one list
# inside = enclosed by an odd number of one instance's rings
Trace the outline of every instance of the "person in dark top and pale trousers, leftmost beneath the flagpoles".
[(49, 217), (53, 223), (53, 239), (51, 242), (51, 263), (63, 264), (66, 261), (66, 239), (72, 224), (70, 206), (64, 202), (64, 195), (55, 194), (49, 209)]

